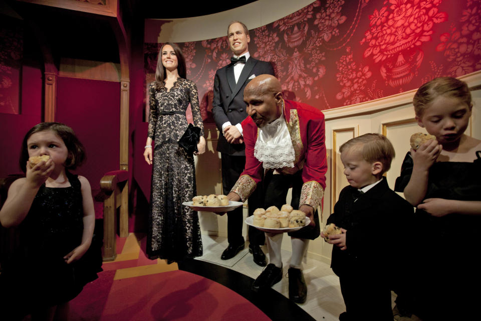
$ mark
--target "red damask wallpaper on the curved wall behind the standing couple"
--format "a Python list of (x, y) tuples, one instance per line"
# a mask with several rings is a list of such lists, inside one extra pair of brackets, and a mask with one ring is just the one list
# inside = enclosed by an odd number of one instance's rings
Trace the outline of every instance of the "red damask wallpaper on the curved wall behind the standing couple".
[[(274, 65), (287, 98), (330, 109), (481, 69), (480, 11), (481, 0), (321, 0), (251, 30), (249, 51)], [(214, 74), (231, 56), (227, 38), (179, 46), (210, 122)], [(147, 82), (160, 47), (145, 43)]]

